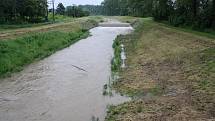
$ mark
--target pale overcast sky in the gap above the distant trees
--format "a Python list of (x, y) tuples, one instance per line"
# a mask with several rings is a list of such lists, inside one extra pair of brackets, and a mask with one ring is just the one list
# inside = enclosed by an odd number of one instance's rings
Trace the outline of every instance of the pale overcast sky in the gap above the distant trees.
[(72, 4), (76, 5), (99, 5), (103, 0), (55, 0), (55, 6), (58, 5), (58, 3), (63, 3), (64, 6), (69, 6)]

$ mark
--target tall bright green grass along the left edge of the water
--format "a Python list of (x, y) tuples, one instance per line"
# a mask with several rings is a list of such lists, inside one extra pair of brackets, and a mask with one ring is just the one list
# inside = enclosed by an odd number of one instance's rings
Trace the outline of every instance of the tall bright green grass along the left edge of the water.
[(86, 35), (78, 32), (51, 31), (14, 40), (0, 41), (0, 77), (22, 70), (24, 65), (51, 55)]

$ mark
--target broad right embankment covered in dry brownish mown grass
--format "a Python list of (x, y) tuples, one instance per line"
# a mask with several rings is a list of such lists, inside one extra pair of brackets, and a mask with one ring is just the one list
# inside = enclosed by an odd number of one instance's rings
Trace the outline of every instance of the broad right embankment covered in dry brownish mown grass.
[(106, 121), (214, 120), (215, 35), (138, 21), (115, 42), (125, 44), (128, 67), (113, 88), (133, 100), (111, 106)]

